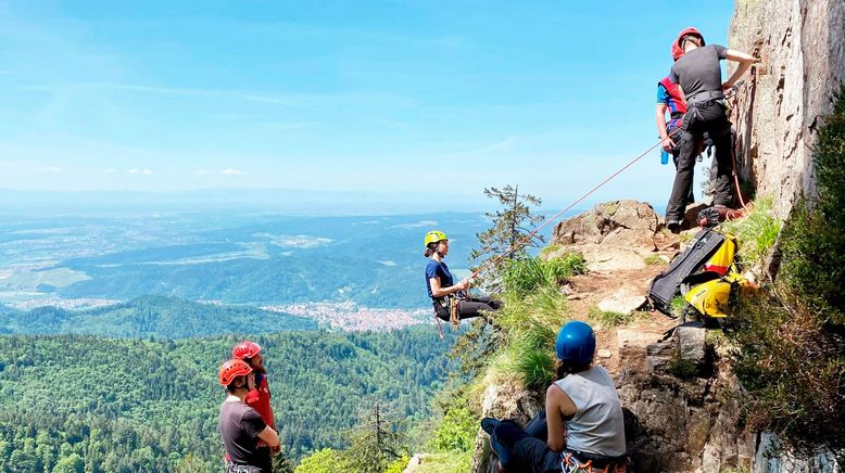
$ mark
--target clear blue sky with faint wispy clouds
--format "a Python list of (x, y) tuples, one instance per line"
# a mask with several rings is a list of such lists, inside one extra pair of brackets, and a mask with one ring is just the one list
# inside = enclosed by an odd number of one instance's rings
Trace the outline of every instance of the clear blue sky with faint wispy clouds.
[[(563, 205), (656, 141), (672, 38), (724, 43), (732, 10), (0, 0), (0, 189), (518, 183)], [(672, 177), (653, 151), (593, 201), (663, 205)]]

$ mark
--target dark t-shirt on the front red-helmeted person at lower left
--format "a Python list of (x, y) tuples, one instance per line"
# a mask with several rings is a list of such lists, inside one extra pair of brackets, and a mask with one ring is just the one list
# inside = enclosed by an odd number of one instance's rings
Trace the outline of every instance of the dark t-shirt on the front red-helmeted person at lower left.
[(255, 409), (244, 402), (223, 402), (220, 406), (220, 437), (229, 459), (238, 464), (273, 471), (268, 447), (256, 447), (258, 434), (267, 426)]

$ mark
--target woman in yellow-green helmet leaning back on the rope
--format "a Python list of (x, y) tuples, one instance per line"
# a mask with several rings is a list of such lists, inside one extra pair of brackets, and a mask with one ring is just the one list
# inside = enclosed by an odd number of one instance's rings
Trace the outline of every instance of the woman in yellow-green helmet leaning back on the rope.
[(449, 254), (449, 239), (445, 233), (439, 230), (426, 233), (425, 245), (424, 256), (429, 258), (426, 265), (426, 289), (438, 319), (452, 320), (453, 311), (458, 320), (468, 319), (502, 308), (502, 303), (491, 297), (470, 296), (469, 279), (455, 283), (443, 261)]

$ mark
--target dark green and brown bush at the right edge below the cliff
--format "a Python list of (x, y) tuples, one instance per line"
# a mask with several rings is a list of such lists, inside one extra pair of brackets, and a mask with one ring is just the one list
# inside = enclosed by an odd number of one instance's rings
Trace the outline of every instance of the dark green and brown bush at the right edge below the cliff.
[[(735, 311), (746, 425), (796, 447), (845, 451), (845, 88), (819, 130), (818, 195), (780, 234), (778, 280)], [(765, 240), (764, 243), (767, 243)], [(764, 245), (765, 246), (765, 245)]]

